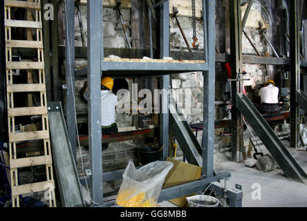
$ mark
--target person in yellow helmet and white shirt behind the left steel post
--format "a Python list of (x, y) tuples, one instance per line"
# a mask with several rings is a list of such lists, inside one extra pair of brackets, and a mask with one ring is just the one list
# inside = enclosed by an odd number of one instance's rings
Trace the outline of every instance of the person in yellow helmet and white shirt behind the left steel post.
[[(114, 81), (111, 77), (104, 77), (101, 80), (101, 120), (102, 135), (118, 133), (118, 125), (115, 123), (115, 106), (118, 104), (118, 97), (112, 93)], [(82, 88), (82, 97), (88, 99), (87, 84)], [(106, 150), (109, 144), (102, 144), (102, 151)]]

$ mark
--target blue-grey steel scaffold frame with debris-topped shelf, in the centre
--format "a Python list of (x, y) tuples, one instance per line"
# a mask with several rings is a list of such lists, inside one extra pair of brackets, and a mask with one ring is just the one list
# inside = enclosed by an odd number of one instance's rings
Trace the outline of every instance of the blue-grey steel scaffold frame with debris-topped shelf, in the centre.
[[(73, 3), (66, 0), (67, 15), (71, 15), (68, 19), (73, 19), (72, 14), (75, 11)], [(203, 178), (201, 180), (190, 182), (189, 184), (182, 184), (163, 189), (159, 200), (170, 200), (178, 198), (187, 194), (202, 191), (207, 188), (212, 182), (224, 180), (230, 177), (230, 173), (214, 174), (214, 91), (215, 91), (215, 1), (203, 0), (203, 30), (204, 30), (204, 60), (205, 64), (168, 64), (168, 63), (144, 63), (137, 62), (111, 62), (104, 61), (104, 47), (103, 47), (103, 13), (102, 1), (88, 1), (88, 86), (89, 86), (89, 160), (91, 166), (91, 175), (86, 179), (90, 181), (91, 198), (98, 206), (110, 206), (104, 202), (102, 184), (106, 180), (117, 180), (122, 177), (123, 170), (102, 173), (102, 151), (99, 148), (102, 145), (101, 136), (101, 101), (100, 101), (100, 80), (104, 75), (112, 74), (113, 76), (122, 76), (122, 73), (135, 74), (140, 76), (160, 76), (160, 89), (169, 90), (169, 75), (171, 73), (187, 73), (192, 71), (202, 71), (204, 80), (204, 123), (203, 123)], [(73, 22), (68, 21), (66, 24), (72, 26)], [(72, 33), (73, 28), (67, 28)], [(68, 34), (71, 35), (71, 34)], [(68, 36), (67, 35), (67, 36)], [(68, 48), (70, 46), (70, 48)], [(101, 48), (101, 50), (97, 50)], [(69, 69), (74, 62), (75, 52), (68, 50), (75, 50), (73, 46), (73, 37), (66, 39), (66, 70)], [(163, 1), (160, 4), (160, 59), (169, 57), (169, 1)], [(69, 73), (70, 79), (75, 73)], [(75, 95), (71, 80), (67, 81), (67, 99), (72, 99)], [(169, 106), (169, 97), (162, 97), (162, 103)], [(69, 108), (69, 107), (68, 107)], [(167, 108), (168, 110), (168, 108)], [(69, 125), (75, 124), (75, 115), (72, 111), (67, 111), (68, 134), (74, 133), (75, 129)], [(168, 147), (169, 144), (169, 113), (160, 114), (160, 144)], [(71, 130), (71, 131), (70, 131)], [(72, 131), (73, 130), (73, 131)], [(73, 139), (73, 138), (71, 138)], [(168, 148), (163, 150), (163, 160), (168, 156)], [(83, 182), (84, 180), (82, 180)], [(242, 192), (241, 191), (227, 191), (227, 198), (235, 206), (241, 206)], [(239, 203), (238, 203), (239, 202)], [(96, 206), (97, 206), (96, 205)]]

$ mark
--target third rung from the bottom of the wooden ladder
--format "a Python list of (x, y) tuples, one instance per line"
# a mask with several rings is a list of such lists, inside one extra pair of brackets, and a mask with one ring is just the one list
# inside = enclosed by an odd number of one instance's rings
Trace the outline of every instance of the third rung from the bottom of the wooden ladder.
[(49, 131), (34, 131), (24, 133), (10, 133), (9, 141), (12, 142), (24, 142), (28, 140), (43, 140), (49, 139)]

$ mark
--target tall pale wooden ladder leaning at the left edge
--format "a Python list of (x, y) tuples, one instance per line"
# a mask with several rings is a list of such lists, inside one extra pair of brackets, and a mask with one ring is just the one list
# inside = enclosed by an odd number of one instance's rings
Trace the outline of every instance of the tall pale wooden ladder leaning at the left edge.
[[(33, 12), (33, 17), (26, 21), (11, 19), (11, 8), (24, 8), (27, 12)], [(40, 0), (13, 1), (4, 0), (5, 9), (5, 35), (6, 35), (6, 82), (8, 100), (8, 130), (9, 130), (9, 155), (10, 155), (10, 180), (12, 186), (12, 206), (19, 207), (19, 196), (27, 193), (44, 191), (45, 198), (50, 207), (55, 207), (55, 182), (53, 180), (53, 161), (50, 148), (50, 135), (48, 125), (48, 110), (46, 98), (46, 81), (44, 66), (44, 44), (41, 20)], [(27, 15), (27, 14), (26, 14)], [(32, 18), (32, 19), (31, 19)], [(29, 21), (35, 20), (35, 21)], [(12, 39), (12, 28), (28, 28), (34, 30), (29, 40)], [(35, 48), (37, 59), (32, 61), (12, 61), (12, 48)], [(39, 84), (14, 84), (13, 71), (24, 70), (29, 73), (38, 73)], [(31, 81), (30, 81), (31, 82)], [(29, 81), (28, 81), (29, 83)], [(31, 82), (32, 83), (32, 82)], [(39, 93), (40, 106), (26, 106), (15, 108), (15, 93)], [(29, 96), (28, 96), (29, 97)], [(41, 116), (41, 131), (17, 133), (15, 131), (15, 117)], [(17, 159), (17, 142), (44, 141), (44, 155)], [(32, 184), (19, 185), (18, 169), (29, 166), (46, 165), (46, 181)], [(48, 195), (46, 195), (48, 193)]]

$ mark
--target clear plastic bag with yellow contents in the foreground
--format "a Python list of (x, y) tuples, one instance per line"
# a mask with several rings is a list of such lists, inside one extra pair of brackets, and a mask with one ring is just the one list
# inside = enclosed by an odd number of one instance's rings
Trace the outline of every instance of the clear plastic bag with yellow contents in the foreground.
[(158, 197), (172, 167), (171, 162), (156, 161), (137, 170), (129, 162), (116, 203), (123, 207), (159, 207)]

